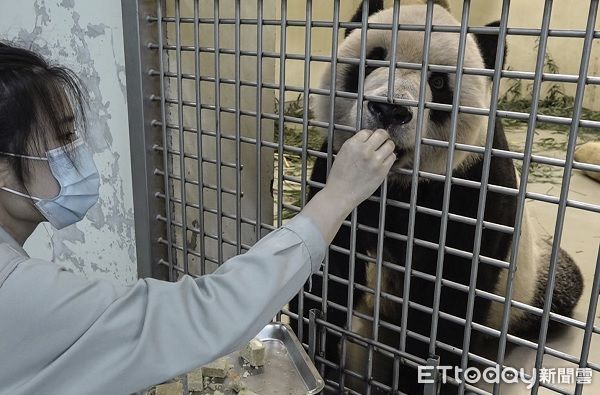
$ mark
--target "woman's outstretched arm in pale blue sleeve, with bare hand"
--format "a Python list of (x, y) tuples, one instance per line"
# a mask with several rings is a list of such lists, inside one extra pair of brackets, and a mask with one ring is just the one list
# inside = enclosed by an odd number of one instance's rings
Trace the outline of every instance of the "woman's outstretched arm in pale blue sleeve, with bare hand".
[(319, 269), (344, 218), (391, 167), (386, 141), (359, 132), (300, 215), (200, 278), (122, 287), (0, 244), (9, 262), (0, 267), (0, 393), (131, 393), (233, 351)]

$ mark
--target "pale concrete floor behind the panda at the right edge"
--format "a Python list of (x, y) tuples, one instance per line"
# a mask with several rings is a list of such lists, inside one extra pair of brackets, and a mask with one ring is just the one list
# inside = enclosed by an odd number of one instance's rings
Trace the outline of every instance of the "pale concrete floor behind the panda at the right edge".
[[(521, 150), (524, 145), (524, 130), (508, 130), (507, 137), (511, 149)], [(561, 132), (538, 131), (534, 139), (534, 153), (554, 158), (565, 157), (565, 143), (567, 135)], [(589, 137), (588, 137), (589, 139)], [(527, 190), (558, 197), (560, 195), (562, 181), (562, 168), (545, 167), (537, 169), (529, 178)], [(584, 203), (600, 205), (600, 183), (585, 176), (581, 171), (574, 170), (569, 186), (569, 199)], [(529, 200), (527, 202), (532, 219), (543, 234), (552, 237), (556, 224), (558, 206), (550, 203)], [(590, 295), (591, 285), (594, 278), (596, 258), (600, 243), (600, 214), (568, 208), (565, 215), (564, 230), (561, 246), (565, 249), (579, 265), (585, 288), (583, 296), (577, 305), (574, 317), (582, 322), (586, 321), (590, 300), (598, 303), (598, 295)], [(594, 322), (600, 326), (600, 309), (596, 312)], [(579, 357), (581, 355), (584, 331), (577, 328), (569, 328), (564, 334), (551, 339), (547, 346), (557, 351)], [(600, 336), (593, 335), (588, 361), (600, 364)], [(506, 363), (509, 366), (523, 367), (531, 373), (535, 364), (535, 350), (525, 347), (513, 349), (507, 356)], [(576, 365), (550, 356), (545, 356), (544, 367), (547, 368), (574, 368)], [(572, 391), (574, 385), (559, 384), (556, 386)], [(502, 394), (520, 395), (528, 394), (529, 390), (523, 385), (505, 385), (501, 387)], [(541, 388), (541, 394), (556, 394), (556, 392)], [(594, 372), (592, 384), (584, 385), (584, 394), (600, 394), (600, 374)]]

